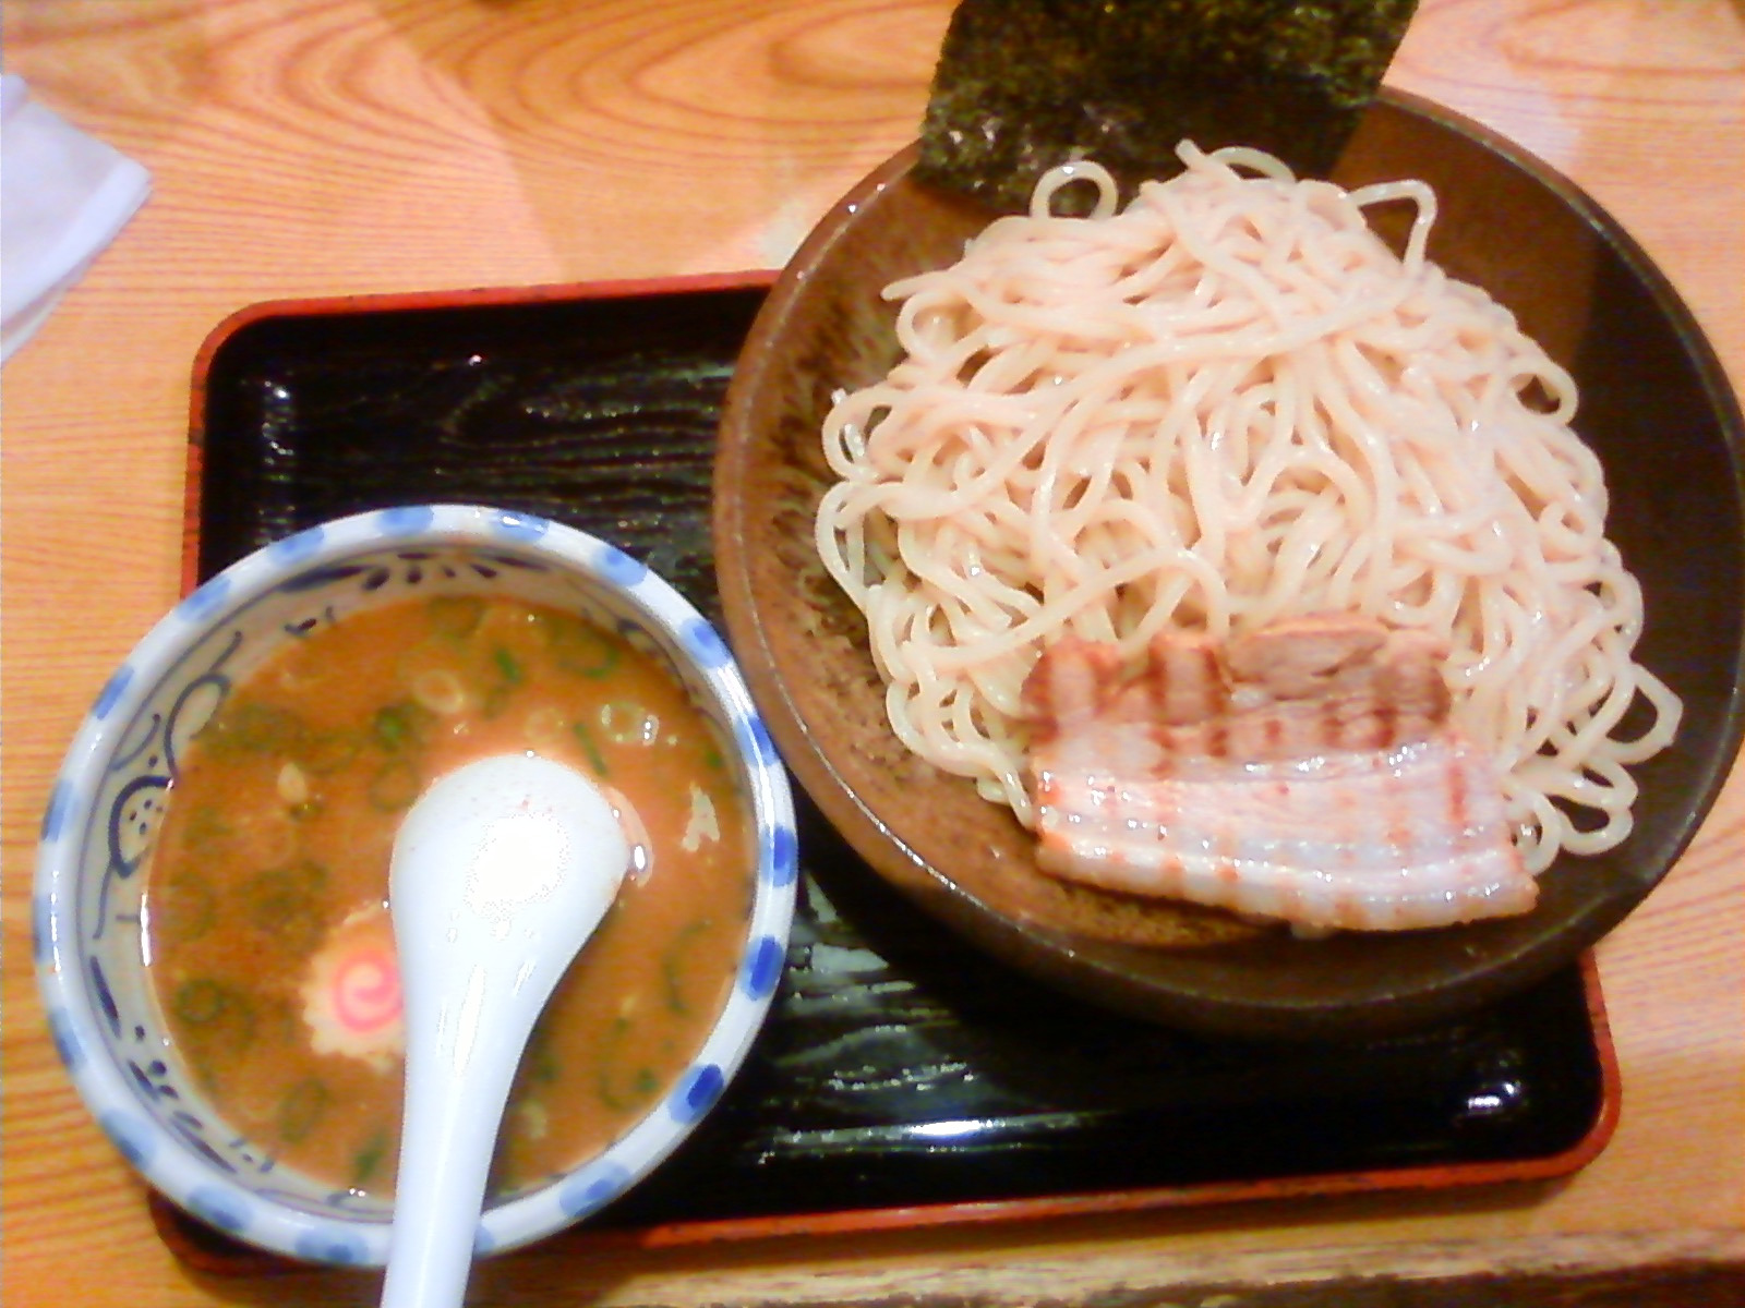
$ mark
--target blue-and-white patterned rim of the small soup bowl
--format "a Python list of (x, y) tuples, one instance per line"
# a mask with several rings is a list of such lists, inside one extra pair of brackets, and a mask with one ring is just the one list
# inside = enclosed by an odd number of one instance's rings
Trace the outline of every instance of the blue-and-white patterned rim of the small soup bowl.
[(112, 671), (56, 771), (44, 807), (33, 879), (33, 963), (56, 1052), (96, 1120), (129, 1165), (168, 1200), (227, 1235), (288, 1257), (380, 1266), (391, 1221), (377, 1214), (316, 1214), (258, 1193), (166, 1130), (110, 1055), (82, 966), (79, 886), (92, 828), (96, 778), (127, 727), (188, 647), (267, 598), (283, 582), (368, 555), (476, 548), (557, 563), (609, 593), (658, 631), (658, 642), (707, 687), (733, 732), (756, 865), (736, 975), (679, 1083), (602, 1153), (482, 1214), (476, 1252), (504, 1252), (581, 1221), (653, 1172), (707, 1116), (743, 1064), (782, 975), (797, 895), (792, 794), (775, 743), (729, 647), (677, 589), (611, 542), (529, 513), (478, 504), (408, 504), (316, 523), (272, 541), (185, 595)]

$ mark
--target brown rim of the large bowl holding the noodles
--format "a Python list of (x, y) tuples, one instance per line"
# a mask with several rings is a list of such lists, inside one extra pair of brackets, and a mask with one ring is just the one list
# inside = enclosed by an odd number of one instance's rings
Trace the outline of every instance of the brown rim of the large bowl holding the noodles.
[[(1705, 408), (1715, 415), (1722, 443), (1738, 485), (1733, 497), (1745, 509), (1745, 415), (1740, 396), (1696, 316), (1686, 305), (1666, 274), (1649, 258), (1630, 232), (1581, 187), (1539, 159), (1525, 146), (1445, 105), (1406, 91), (1384, 87), (1377, 105), (1433, 131), (1471, 141), (1497, 157), (1530, 185), (1543, 188), (1607, 248), (1639, 281), (1656, 312), (1684, 347), (1696, 373)], [(722, 410), (722, 439), (717, 446), (714, 508), (717, 581), (724, 621), (733, 637), (754, 694), (764, 705), (796, 780), (831, 825), (886, 882), (918, 902), (923, 910), (944, 919), (974, 945), (1019, 966), (1042, 980), (1080, 994), (1094, 1003), (1127, 1013), (1201, 1031), (1215, 1036), (1265, 1039), (1319, 1039), (1387, 1034), (1457, 1015), (1475, 1003), (1488, 1003), (1543, 978), (1557, 966), (1570, 963), (1583, 949), (1604, 937), (1647, 891), (1677, 863), (1696, 837), (1701, 820), (1714, 807), (1728, 781), (1731, 760), (1745, 738), (1745, 644), (1731, 651), (1731, 689), (1726, 696), (1724, 724), (1715, 757), (1707, 759), (1691, 787), (1691, 804), (1680, 816), (1670, 855), (1653, 877), (1639, 879), (1628, 903), (1618, 896), (1572, 919), (1564, 937), (1536, 940), (1480, 973), (1426, 980), (1405, 994), (1377, 998), (1338, 1010), (1317, 1006), (1290, 992), (1270, 998), (1230, 998), (1188, 985), (1155, 987), (1134, 978), (1108, 959), (1091, 956), (1073, 937), (1035, 923), (1019, 923), (965, 888), (949, 867), (934, 867), (911, 848), (859, 794), (843, 774), (831, 748), (825, 748), (801, 712), (778, 666), (763, 605), (754, 591), (750, 565), (740, 556), (736, 541), (745, 521), (759, 509), (743, 495), (722, 495), (722, 485), (743, 487), (743, 452), (754, 443), (747, 436), (754, 392), (768, 385), (773, 366), (771, 344), (787, 314), (813, 281), (813, 270), (832, 246), (848, 239), (852, 218), (876, 195), (904, 180), (920, 157), (920, 141), (897, 150), (853, 183), (808, 232), (757, 316), (735, 370)], [(972, 204), (963, 201), (963, 204)], [(979, 208), (979, 206), (977, 206)], [(988, 211), (991, 216), (991, 211)], [(738, 434), (735, 434), (738, 433)], [(1663, 619), (1665, 621), (1665, 619)], [(1635, 882), (1633, 882), (1635, 884)], [(1131, 945), (1126, 949), (1143, 949)], [(1476, 996), (1476, 998), (1475, 998)], [(1415, 1008), (1413, 1008), (1415, 1006)]]

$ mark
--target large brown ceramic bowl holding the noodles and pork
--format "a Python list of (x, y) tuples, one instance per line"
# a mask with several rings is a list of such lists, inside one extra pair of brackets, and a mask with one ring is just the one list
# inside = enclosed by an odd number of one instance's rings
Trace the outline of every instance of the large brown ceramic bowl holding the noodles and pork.
[[(824, 574), (813, 508), (829, 483), (818, 429), (838, 387), (897, 358), (879, 290), (953, 262), (989, 218), (876, 169), (777, 283), (740, 356), (715, 464), (728, 631), (777, 745), (867, 865), (988, 954), (1166, 1024), (1239, 1036), (1342, 1038), (1452, 1017), (1572, 961), (1666, 874), (1738, 750), (1745, 649), (1745, 424), (1666, 281), (1593, 201), (1518, 148), (1429, 103), (1387, 94), (1335, 169), (1347, 187), (1419, 176), (1441, 216), (1431, 255), (1485, 286), (1576, 375), (1577, 427), (1612, 490), (1609, 534), (1642, 579), (1639, 657), (1682, 698), (1677, 743), (1635, 769), (1637, 828), (1564, 858), (1523, 917), (1302, 942), (1190, 909), (1146, 914), (1153, 944), (1103, 938), (1119, 896), (1035, 870), (1028, 834), (968, 781), (892, 736), (860, 614)], [(965, 954), (975, 964), (975, 954)]]

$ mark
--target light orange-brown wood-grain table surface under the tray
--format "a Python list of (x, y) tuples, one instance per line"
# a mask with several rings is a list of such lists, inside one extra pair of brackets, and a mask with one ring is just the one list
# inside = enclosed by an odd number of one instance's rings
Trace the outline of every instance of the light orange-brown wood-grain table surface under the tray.
[[(178, 1263), (63, 1076), (30, 970), (51, 776), (176, 596), (206, 333), (279, 296), (777, 267), (914, 136), (948, 16), (941, 0), (3, 2), (7, 70), (155, 178), (3, 375), (7, 1305), (373, 1303), (379, 1285)], [(1593, 194), (1745, 382), (1738, 0), (1426, 0), (1389, 80)], [(1735, 769), (1598, 950), (1623, 1113), (1558, 1184), (586, 1261), (548, 1247), (489, 1264), (473, 1303), (1738, 1303), (1742, 891)], [(1508, 1289), (1475, 1291), (1487, 1271)]]

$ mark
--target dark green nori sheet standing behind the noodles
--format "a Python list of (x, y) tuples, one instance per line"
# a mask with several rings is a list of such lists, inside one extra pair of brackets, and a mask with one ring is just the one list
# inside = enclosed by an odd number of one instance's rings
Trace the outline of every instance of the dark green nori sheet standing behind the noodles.
[(1253, 145), (1324, 176), (1417, 0), (961, 0), (916, 176), (1002, 213), (1096, 159), (1122, 194), (1180, 171), (1176, 145)]

